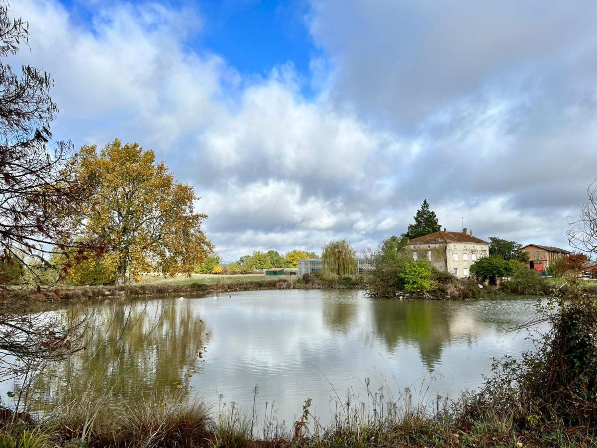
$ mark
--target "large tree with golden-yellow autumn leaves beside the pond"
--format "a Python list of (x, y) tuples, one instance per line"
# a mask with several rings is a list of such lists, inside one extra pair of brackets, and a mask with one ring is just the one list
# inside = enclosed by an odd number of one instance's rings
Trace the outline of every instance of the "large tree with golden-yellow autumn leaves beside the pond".
[(76, 238), (101, 241), (121, 283), (142, 272), (190, 275), (213, 250), (193, 188), (176, 182), (153, 151), (116, 139), (100, 151), (83, 146), (73, 167), (93, 189)]

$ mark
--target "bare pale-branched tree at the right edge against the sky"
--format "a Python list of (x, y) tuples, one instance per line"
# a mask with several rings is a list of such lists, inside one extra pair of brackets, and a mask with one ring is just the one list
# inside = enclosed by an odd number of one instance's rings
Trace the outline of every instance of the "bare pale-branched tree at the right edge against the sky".
[(597, 179), (587, 187), (587, 197), (580, 217), (568, 221), (568, 244), (592, 257), (597, 254)]

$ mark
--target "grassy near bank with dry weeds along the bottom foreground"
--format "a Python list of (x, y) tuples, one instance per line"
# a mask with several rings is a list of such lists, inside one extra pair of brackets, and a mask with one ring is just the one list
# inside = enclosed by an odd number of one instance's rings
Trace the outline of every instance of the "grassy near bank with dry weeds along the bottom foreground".
[[(516, 409), (495, 409), (482, 419), (476, 398), (435, 401), (413, 407), (408, 395), (384, 401), (371, 393), (368, 401), (338, 403), (330, 425), (310, 415), (310, 401), (297, 409), (297, 421), (279, 424), (272, 415), (243, 414), (234, 406), (214, 413), (183, 394), (131, 402), (87, 395), (57, 404), (44, 418), (5, 412), (0, 447), (149, 448), (149, 447), (412, 447), (596, 446), (591, 426), (546, 422), (518, 424)], [(512, 403), (514, 404), (514, 403)]]

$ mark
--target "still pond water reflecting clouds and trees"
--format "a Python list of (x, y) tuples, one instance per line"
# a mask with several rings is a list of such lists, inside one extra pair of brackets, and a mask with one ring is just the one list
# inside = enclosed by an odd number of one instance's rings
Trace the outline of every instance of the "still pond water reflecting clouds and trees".
[[(405, 387), (416, 399), (478, 387), (493, 357), (532, 348), (527, 333), (509, 330), (535, 306), (528, 297), (408, 302), (341, 290), (106, 300), (92, 307), (99, 330), (87, 349), (51, 366), (36, 387), (42, 400), (65, 384), (124, 396), (178, 389), (251, 412), (257, 386), (257, 409), (273, 403), (278, 421), (294, 421), (312, 398), (325, 422), (338, 398), (367, 401), (365, 379), (387, 398)], [(63, 312), (76, 320), (86, 309)]]

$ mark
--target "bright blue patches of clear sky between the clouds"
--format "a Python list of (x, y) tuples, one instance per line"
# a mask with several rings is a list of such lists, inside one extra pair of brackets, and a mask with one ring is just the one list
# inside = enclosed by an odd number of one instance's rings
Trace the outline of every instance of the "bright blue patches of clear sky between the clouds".
[[(97, 2), (61, 0), (61, 3), (84, 26), (90, 26), (97, 12)], [(103, 2), (106, 3), (109, 2)], [(264, 75), (275, 66), (291, 62), (301, 77), (309, 77), (310, 59), (318, 51), (307, 29), (309, 5), (305, 0), (171, 1), (164, 5), (201, 17), (185, 42), (195, 51), (220, 54), (245, 75)], [(310, 90), (309, 83), (303, 87)]]

